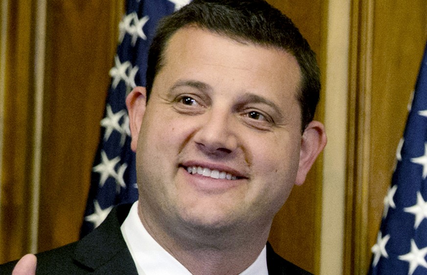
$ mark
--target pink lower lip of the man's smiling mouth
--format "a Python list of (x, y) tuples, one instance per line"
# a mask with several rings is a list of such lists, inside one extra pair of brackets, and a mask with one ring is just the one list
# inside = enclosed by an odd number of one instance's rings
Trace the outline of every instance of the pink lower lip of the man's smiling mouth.
[(222, 193), (227, 190), (233, 189), (245, 180), (226, 180), (226, 179), (213, 179), (199, 174), (190, 174), (184, 167), (180, 167), (180, 172), (184, 174), (185, 181), (195, 187), (196, 190), (205, 193)]

